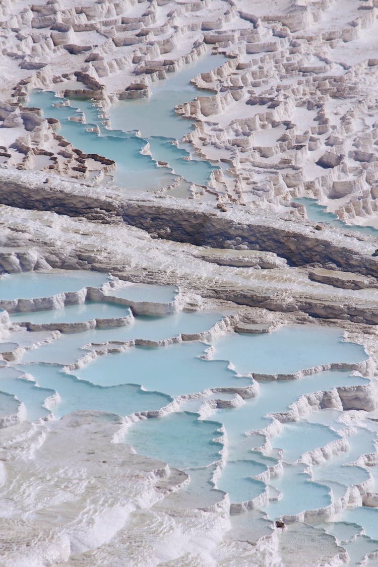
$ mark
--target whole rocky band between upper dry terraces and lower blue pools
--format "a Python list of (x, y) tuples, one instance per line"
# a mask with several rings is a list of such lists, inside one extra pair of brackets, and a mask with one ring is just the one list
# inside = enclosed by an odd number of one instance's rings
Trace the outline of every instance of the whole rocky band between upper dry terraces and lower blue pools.
[[(42, 211), (28, 213), (25, 210), (24, 218), (29, 220), (20, 224), (15, 213), (17, 209), (4, 209), (2, 243), (7, 249), (1, 254), (0, 263), (5, 271), (53, 266), (111, 269), (118, 273), (128, 266), (138, 266), (138, 269), (147, 269), (154, 274), (155, 281), (163, 278), (161, 281), (168, 283), (160, 267), (168, 263), (177, 283), (196, 289), (197, 282), (201, 281), (201, 293), (208, 297), (222, 297), (274, 311), (300, 310), (330, 319), (377, 323), (373, 289), (367, 296), (363, 289), (352, 291), (345, 285), (342, 286), (345, 291), (342, 291), (341, 286), (338, 289), (330, 286), (330, 280), (325, 285), (312, 283), (314, 278), (307, 276), (308, 269), (310, 274), (314, 273), (314, 265), (328, 270), (332, 266), (341, 274), (341, 269), (355, 270), (355, 281), (367, 281), (368, 287), (375, 285), (372, 275), (376, 272), (377, 260), (371, 254), (376, 244), (371, 237), (345, 236), (340, 240), (340, 232), (336, 229), (315, 231), (311, 226), (300, 229), (294, 222), (273, 224), (267, 218), (262, 223), (261, 217), (244, 210), (235, 214), (236, 208), (225, 215), (204, 207), (197, 211), (192, 206), (183, 208), (182, 204), (175, 208), (169, 203), (163, 206), (162, 200), (104, 199), (100, 190), (89, 189), (86, 185), (67, 181), (56, 185), (53, 177), (48, 184), (41, 183), (38, 174), (33, 177), (31, 192), (31, 182), (27, 188), (21, 182), (26, 177), (30, 179), (29, 174), (20, 172), (14, 175), (9, 172), (3, 177), (1, 198), (13, 205)], [(46, 209), (55, 210), (60, 216)], [(78, 221), (74, 217), (78, 217)], [(87, 223), (80, 221), (82, 217), (90, 221), (90, 237), (85, 237), (88, 247), (83, 245), (80, 236), (88, 230)], [(50, 222), (53, 222), (51, 227), (48, 226)], [(135, 229), (130, 223), (147, 229), (147, 232)], [(162, 230), (156, 234), (160, 226)], [(21, 227), (23, 232), (26, 230), (24, 235), (20, 232)], [(64, 235), (64, 248), (55, 244), (56, 230)], [(43, 237), (36, 238), (35, 232)], [(171, 242), (160, 246), (157, 236), (169, 238)], [(173, 239), (176, 242), (172, 242)], [(129, 243), (127, 249), (124, 242)], [(33, 252), (18, 251), (18, 246), (25, 245), (32, 245)], [(223, 248), (213, 250), (204, 245)], [(191, 260), (185, 268), (189, 251)], [(256, 270), (257, 261), (260, 270)], [(269, 276), (265, 275), (265, 270), (269, 270)], [(353, 278), (346, 274), (343, 281), (347, 282), (348, 277)]]

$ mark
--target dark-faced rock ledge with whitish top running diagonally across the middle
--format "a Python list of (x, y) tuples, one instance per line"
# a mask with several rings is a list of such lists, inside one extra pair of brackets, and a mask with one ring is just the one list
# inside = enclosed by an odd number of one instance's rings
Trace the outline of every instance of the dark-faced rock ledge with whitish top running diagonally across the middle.
[(371, 256), (376, 245), (372, 237), (346, 237), (332, 227), (318, 234), (309, 223), (299, 225), (269, 215), (256, 215), (236, 205), (232, 211), (221, 213), (205, 204), (193, 209), (189, 202), (176, 203), (173, 198), (169, 201), (125, 199), (117, 193), (103, 197), (103, 192), (93, 187), (62, 183), (58, 177), (46, 186), (39, 174), (16, 171), (1, 172), (0, 201), (22, 208), (84, 216), (97, 222), (126, 222), (159, 238), (179, 242), (215, 248), (263, 249), (294, 265), (328, 262), (352, 272), (359, 270), (373, 276), (378, 273), (378, 261)]

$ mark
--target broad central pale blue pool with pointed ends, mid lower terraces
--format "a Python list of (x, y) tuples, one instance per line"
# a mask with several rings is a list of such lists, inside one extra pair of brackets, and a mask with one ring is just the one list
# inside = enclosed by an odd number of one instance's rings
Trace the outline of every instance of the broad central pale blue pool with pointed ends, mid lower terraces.
[(216, 387), (249, 386), (249, 378), (236, 378), (227, 363), (196, 358), (203, 353), (199, 342), (164, 347), (135, 346), (120, 354), (101, 356), (75, 371), (80, 378), (101, 386), (142, 384), (147, 390), (171, 396)]

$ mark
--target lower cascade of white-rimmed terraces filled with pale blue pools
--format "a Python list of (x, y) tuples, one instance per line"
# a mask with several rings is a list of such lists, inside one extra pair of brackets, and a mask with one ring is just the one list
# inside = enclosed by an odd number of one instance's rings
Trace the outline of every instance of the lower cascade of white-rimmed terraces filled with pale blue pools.
[[(235, 332), (235, 305), (188, 310), (180, 288), (68, 274), (0, 278), (10, 310), (1, 326), (0, 437), (17, 423), (49, 431), (72, 412), (79, 420), (106, 412), (118, 416), (114, 441), (186, 475), (175, 498), (169, 490), (164, 497), (179, 517), (198, 507), (228, 510), (233, 530), (241, 514), (243, 529), (259, 526), (264, 538), (273, 538), (276, 519), (304, 521), (320, 536), (334, 533), (355, 561), (375, 544), (378, 552), (371, 532), (347, 544), (338, 536), (349, 518), (362, 518), (362, 502), (373, 502), (377, 476), (377, 395), (360, 345), (324, 325), (264, 332), (248, 327), (245, 313)], [(92, 319), (99, 311), (100, 325)], [(108, 443), (105, 436), (97, 446), (100, 458)], [(0, 498), (13, 490), (6, 481)], [(69, 502), (63, 497), (62, 510)], [(27, 502), (19, 505), (27, 513)]]

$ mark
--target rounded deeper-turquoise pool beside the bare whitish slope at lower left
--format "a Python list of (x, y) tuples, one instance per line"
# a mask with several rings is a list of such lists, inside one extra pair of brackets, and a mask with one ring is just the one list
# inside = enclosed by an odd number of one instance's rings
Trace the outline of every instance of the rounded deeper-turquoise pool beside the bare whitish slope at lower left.
[(172, 467), (205, 467), (219, 460), (222, 445), (213, 441), (220, 424), (200, 421), (197, 414), (169, 413), (137, 421), (126, 432), (125, 442), (142, 455), (152, 456)]

